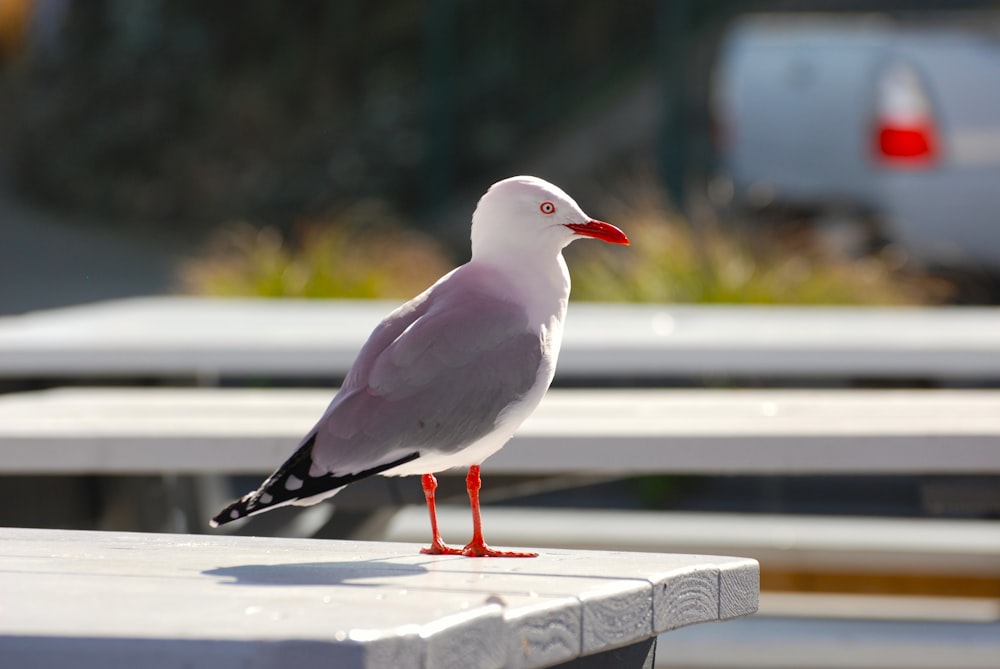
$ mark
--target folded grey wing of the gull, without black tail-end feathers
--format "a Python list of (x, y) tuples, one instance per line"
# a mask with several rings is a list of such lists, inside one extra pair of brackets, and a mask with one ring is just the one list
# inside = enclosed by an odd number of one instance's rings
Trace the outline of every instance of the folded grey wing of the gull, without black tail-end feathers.
[(542, 344), (524, 309), (443, 282), (388, 318), (316, 426), (313, 462), (338, 474), (489, 433), (535, 384)]

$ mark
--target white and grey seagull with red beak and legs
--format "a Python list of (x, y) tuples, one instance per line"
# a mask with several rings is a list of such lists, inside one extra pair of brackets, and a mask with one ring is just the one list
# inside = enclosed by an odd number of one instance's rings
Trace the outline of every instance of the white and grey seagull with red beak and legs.
[[(535, 557), (483, 538), (480, 466), (535, 410), (552, 382), (570, 279), (562, 250), (579, 238), (629, 243), (562, 189), (531, 176), (493, 184), (472, 215), (472, 257), (390, 313), (292, 456), (223, 509), (217, 527), (308, 506), (369, 476), (420, 475), (430, 555)], [(472, 540), (438, 531), (435, 472), (468, 467)]]

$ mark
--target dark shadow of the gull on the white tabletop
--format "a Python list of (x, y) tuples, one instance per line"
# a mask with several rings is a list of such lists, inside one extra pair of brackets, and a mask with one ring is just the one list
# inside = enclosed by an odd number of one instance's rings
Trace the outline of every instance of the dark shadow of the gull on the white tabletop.
[(223, 585), (341, 585), (377, 586), (386, 578), (426, 573), (421, 565), (379, 560), (351, 562), (296, 562), (290, 564), (243, 564), (206, 569), (205, 576), (224, 579)]

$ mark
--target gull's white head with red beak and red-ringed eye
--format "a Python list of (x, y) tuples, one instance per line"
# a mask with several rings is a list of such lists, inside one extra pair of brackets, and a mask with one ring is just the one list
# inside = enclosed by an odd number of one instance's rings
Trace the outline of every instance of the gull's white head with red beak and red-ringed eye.
[(498, 181), (472, 215), (472, 255), (558, 253), (578, 237), (628, 244), (625, 233), (587, 216), (573, 198), (544, 179), (518, 176)]

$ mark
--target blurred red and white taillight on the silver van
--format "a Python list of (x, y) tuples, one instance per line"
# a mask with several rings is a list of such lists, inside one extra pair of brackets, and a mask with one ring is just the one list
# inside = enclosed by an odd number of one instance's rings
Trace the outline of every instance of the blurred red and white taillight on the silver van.
[(876, 91), (875, 158), (887, 167), (927, 167), (939, 154), (930, 99), (907, 63), (891, 63)]

